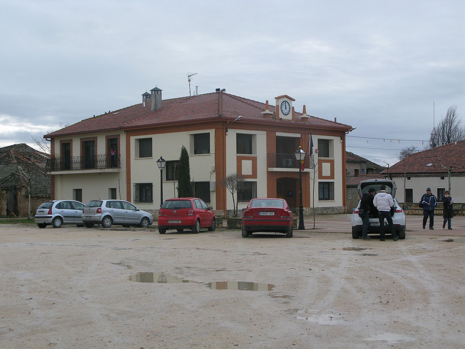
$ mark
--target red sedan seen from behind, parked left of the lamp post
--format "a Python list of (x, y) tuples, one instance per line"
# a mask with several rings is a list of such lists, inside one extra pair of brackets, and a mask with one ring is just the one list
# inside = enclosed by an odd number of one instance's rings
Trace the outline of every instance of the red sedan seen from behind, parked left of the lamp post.
[(284, 199), (252, 199), (247, 208), (242, 209), (242, 237), (253, 232), (284, 233), (292, 237), (292, 210)]

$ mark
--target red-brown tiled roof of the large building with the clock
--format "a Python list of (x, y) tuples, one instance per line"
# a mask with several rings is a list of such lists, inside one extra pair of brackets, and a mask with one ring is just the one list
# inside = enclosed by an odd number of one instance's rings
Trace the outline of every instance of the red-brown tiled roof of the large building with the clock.
[[(252, 101), (225, 92), (213, 92), (193, 97), (163, 100), (162, 107), (154, 112), (151, 111), (150, 101), (146, 103), (146, 107), (143, 107), (142, 103), (136, 104), (111, 113), (82, 120), (61, 130), (46, 134), (45, 137), (51, 138), (112, 129), (161, 126), (188, 121), (212, 120), (214, 118), (236, 118), (239, 115), (243, 116), (241, 121), (292, 123), (291, 120), (266, 118), (261, 114), (263, 111), (265, 111), (265, 103)], [(274, 113), (275, 106), (270, 105), (269, 111)], [(297, 121), (300, 121), (302, 114), (297, 112), (295, 114)], [(308, 116), (308, 121), (301, 121), (301, 124), (316, 128), (340, 129), (341, 131), (351, 128), (351, 126), (339, 122), (314, 116)]]

